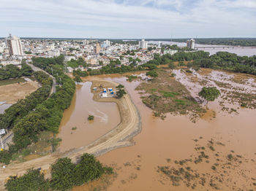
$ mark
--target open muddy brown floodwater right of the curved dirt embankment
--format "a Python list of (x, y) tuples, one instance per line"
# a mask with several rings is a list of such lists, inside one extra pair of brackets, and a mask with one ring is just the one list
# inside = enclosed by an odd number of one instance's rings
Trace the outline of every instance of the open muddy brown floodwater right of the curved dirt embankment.
[[(203, 117), (193, 123), (188, 117), (170, 114), (167, 114), (165, 120), (160, 120), (152, 116), (151, 109), (142, 103), (140, 94), (135, 91), (139, 82), (127, 82), (126, 78), (120, 75), (104, 75), (102, 78), (121, 83), (126, 87), (140, 111), (142, 120), (142, 132), (135, 136), (135, 146), (116, 149), (97, 157), (101, 163), (113, 165), (118, 174), (107, 190), (192, 190), (185, 184), (173, 186), (170, 179), (157, 172), (157, 166), (168, 165), (167, 158), (171, 161), (187, 158), (194, 160), (197, 156), (195, 147), (197, 145), (207, 147), (211, 139), (214, 142), (221, 142), (222, 146), (214, 145), (215, 152), (205, 151), (210, 156), (209, 162), (191, 163), (190, 166), (198, 173), (206, 174), (209, 179), (214, 179), (221, 168), (217, 167), (217, 171), (213, 171), (211, 165), (217, 163), (215, 160), (219, 161), (218, 163), (226, 163), (226, 156), (232, 150), (232, 153), (235, 153), (233, 155), (242, 155), (244, 161), (236, 165), (236, 168), (227, 168), (225, 174), (227, 180), (219, 184), (220, 189), (255, 189), (252, 185), (252, 179), (256, 178), (256, 165), (253, 162), (256, 160), (255, 110), (241, 109), (239, 114), (228, 114), (217, 111), (216, 101), (209, 105), (210, 112), (216, 113), (216, 117), (211, 120)], [(171, 164), (175, 166), (174, 163)], [(88, 187), (75, 187), (74, 190), (88, 190)], [(196, 190), (214, 190), (214, 188), (207, 183), (204, 186), (197, 185)]]

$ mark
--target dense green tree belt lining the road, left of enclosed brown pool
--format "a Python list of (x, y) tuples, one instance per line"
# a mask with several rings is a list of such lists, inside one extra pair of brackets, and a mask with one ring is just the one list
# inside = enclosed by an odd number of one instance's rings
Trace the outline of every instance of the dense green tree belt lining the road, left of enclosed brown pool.
[(75, 93), (75, 82), (64, 74), (63, 56), (57, 58), (33, 58), (34, 66), (52, 73), (59, 84), (56, 93), (48, 98), (53, 80), (42, 71), (35, 72), (37, 81), (42, 84), (37, 91), (18, 101), (0, 114), (0, 126), (12, 130), (14, 137), (9, 151), (0, 152), (0, 163), (9, 163), (15, 152), (21, 152), (29, 144), (38, 141), (44, 130), (58, 133), (64, 109), (67, 109)]

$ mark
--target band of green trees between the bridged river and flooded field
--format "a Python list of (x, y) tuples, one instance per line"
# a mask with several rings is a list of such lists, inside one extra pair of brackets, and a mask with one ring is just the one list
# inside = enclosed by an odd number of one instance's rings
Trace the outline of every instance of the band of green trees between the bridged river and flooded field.
[(230, 52), (217, 52), (211, 56), (209, 52), (204, 51), (177, 52), (174, 55), (166, 54), (163, 56), (154, 55), (154, 59), (148, 61), (144, 66), (173, 65), (174, 61), (190, 61), (187, 66), (195, 69), (203, 67), (256, 75), (256, 55), (251, 57), (238, 56)]

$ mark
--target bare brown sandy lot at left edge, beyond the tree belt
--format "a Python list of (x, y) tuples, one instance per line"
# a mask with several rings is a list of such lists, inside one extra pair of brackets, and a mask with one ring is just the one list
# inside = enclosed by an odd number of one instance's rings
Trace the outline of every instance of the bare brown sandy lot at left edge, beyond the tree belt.
[(37, 82), (27, 82), (25, 85), (3, 85), (0, 86), (0, 101), (6, 101), (6, 104), (15, 104), (19, 99), (34, 92), (38, 88)]

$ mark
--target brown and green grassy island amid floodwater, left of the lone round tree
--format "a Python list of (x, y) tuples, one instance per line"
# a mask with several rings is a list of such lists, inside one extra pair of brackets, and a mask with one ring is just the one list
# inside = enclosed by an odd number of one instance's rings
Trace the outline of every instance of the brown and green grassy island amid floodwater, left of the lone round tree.
[(143, 103), (153, 109), (155, 116), (165, 118), (168, 112), (190, 114), (191, 120), (195, 121), (204, 109), (192, 98), (184, 85), (169, 76), (170, 71), (158, 69), (156, 72), (158, 77), (142, 82), (136, 88), (142, 93)]

